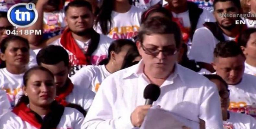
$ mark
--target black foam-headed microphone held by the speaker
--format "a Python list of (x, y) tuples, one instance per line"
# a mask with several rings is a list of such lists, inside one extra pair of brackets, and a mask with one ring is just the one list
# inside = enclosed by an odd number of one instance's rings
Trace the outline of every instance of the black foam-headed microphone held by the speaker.
[(156, 84), (148, 84), (144, 89), (144, 98), (146, 99), (145, 105), (152, 105), (160, 95), (160, 88)]

